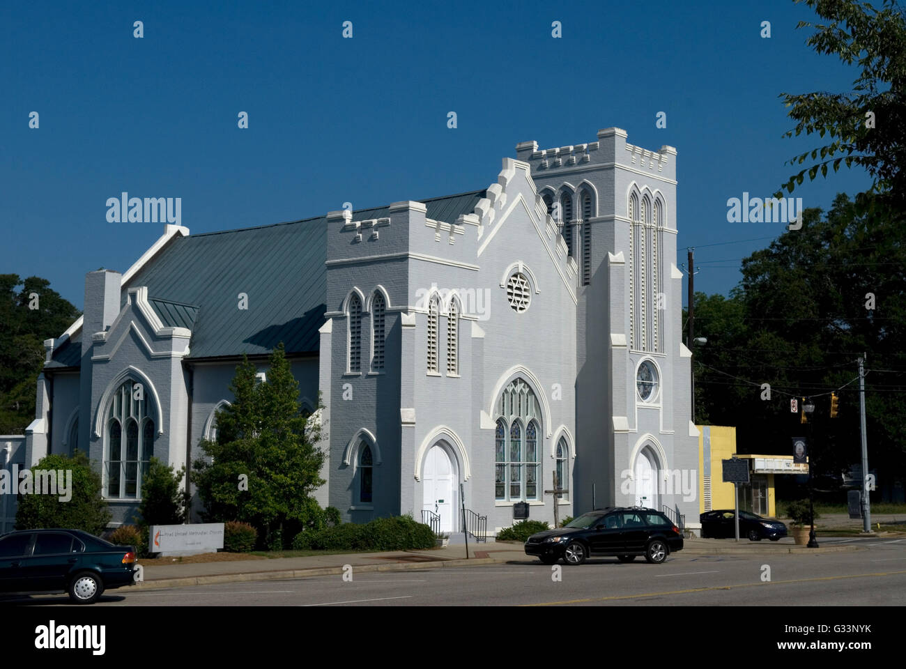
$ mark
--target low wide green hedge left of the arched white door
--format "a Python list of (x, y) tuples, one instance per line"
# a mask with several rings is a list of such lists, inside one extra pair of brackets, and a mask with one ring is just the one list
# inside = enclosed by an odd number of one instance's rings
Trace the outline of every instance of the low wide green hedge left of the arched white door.
[(416, 522), (411, 516), (397, 516), (364, 524), (342, 523), (314, 531), (304, 530), (293, 539), (293, 548), (379, 551), (432, 548), (436, 543), (437, 538), (428, 525)]

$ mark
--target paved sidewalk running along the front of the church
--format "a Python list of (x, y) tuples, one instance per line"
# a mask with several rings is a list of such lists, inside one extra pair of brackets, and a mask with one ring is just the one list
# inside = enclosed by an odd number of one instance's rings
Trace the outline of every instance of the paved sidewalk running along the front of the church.
[[(732, 539), (691, 538), (684, 542), (685, 556), (776, 556), (819, 555), (861, 550), (856, 546), (823, 546), (805, 548), (795, 546), (791, 538), (780, 541), (748, 541), (738, 544)], [(307, 557), (275, 557), (273, 559), (235, 560), (231, 562), (202, 562), (196, 564), (164, 564), (159, 560), (139, 560), (144, 567), (144, 582), (136, 584), (142, 590), (164, 587), (202, 586), (213, 583), (265, 581), (283, 578), (342, 575), (345, 565), (352, 566), (354, 574), (402, 571), (408, 569), (436, 569), (439, 567), (477, 567), (493, 564), (540, 564), (534, 557), (525, 555), (521, 543), (500, 542), (469, 543), (468, 559), (462, 544), (429, 550), (392, 551), (386, 553), (346, 553), (339, 555)]]

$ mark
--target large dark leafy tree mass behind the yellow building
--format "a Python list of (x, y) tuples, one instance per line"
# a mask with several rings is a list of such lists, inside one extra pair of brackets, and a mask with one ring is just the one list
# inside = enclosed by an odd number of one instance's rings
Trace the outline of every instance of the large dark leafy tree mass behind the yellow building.
[[(856, 358), (866, 353), (872, 468), (890, 482), (906, 467), (906, 222), (846, 195), (804, 219), (807, 235), (787, 230), (743, 260), (729, 299), (696, 297), (696, 334), (708, 338), (695, 355), (698, 419), (736, 425), (739, 452), (785, 452), (811, 432), (815, 466), (838, 472), (859, 460)], [(832, 420), (830, 392), (841, 387)], [(791, 396), (814, 396), (808, 425), (789, 411)]]

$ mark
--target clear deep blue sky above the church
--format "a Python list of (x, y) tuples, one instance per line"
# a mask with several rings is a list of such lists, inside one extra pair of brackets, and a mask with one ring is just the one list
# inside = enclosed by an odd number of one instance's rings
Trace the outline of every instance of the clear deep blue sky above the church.
[[(782, 228), (729, 224), (727, 199), (773, 193), (785, 161), (820, 146), (782, 139), (778, 94), (852, 88), (854, 70), (795, 30), (814, 18), (790, 0), (5, 3), (0, 273), (43, 276), (82, 308), (86, 272), (125, 271), (163, 231), (108, 223), (121, 191), (181, 198), (193, 234), (267, 225), (486, 188), (519, 141), (617, 126), (679, 150), (677, 263), (696, 246), (696, 288), (727, 293), (738, 258)], [(831, 175), (796, 190), (805, 207), (870, 183)]]

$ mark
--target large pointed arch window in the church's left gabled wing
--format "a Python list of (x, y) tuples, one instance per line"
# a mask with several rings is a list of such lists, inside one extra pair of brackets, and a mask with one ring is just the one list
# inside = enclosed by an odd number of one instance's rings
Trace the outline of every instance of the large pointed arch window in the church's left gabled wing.
[(109, 499), (141, 499), (141, 480), (154, 454), (154, 421), (147, 389), (122, 383), (107, 410), (104, 488)]

